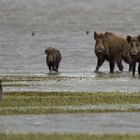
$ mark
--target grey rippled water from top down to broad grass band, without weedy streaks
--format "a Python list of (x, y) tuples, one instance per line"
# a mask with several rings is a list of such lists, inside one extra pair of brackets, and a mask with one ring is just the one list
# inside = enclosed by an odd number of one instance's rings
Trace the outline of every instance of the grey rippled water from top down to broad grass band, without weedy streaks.
[[(44, 50), (56, 47), (63, 56), (60, 78), (12, 83), (5, 91), (140, 91), (139, 78), (127, 73), (126, 64), (124, 73), (115, 77), (110, 76), (107, 62), (100, 69), (102, 74), (93, 73), (94, 31), (138, 35), (139, 15), (139, 0), (0, 0), (1, 76), (46, 77)], [(14, 86), (19, 84), (22, 87)]]

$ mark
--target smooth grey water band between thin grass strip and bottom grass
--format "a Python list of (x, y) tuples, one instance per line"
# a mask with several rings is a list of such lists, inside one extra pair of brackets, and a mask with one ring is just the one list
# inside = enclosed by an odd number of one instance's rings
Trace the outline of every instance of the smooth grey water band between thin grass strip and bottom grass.
[(6, 133), (140, 133), (140, 113), (0, 116)]

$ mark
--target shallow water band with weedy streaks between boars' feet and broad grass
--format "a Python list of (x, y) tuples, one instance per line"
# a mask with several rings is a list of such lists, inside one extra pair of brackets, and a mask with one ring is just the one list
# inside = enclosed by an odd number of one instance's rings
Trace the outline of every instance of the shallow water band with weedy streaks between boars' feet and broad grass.
[[(125, 77), (125, 78), (124, 78)], [(1, 76), (4, 92), (11, 91), (102, 91), (139, 92), (139, 78), (130, 73), (40, 74)]]

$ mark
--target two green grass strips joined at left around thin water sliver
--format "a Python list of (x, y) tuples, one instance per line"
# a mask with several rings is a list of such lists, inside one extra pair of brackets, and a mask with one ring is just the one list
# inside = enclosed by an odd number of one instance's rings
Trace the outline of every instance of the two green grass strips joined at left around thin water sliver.
[[(11, 92), (5, 93), (3, 101), (0, 102), (0, 115), (122, 111), (119, 109), (66, 110), (63, 108), (51, 108), (52, 106), (80, 106), (104, 103), (120, 105), (140, 104), (140, 94), (103, 92)], [(131, 108), (123, 111), (140, 110)]]

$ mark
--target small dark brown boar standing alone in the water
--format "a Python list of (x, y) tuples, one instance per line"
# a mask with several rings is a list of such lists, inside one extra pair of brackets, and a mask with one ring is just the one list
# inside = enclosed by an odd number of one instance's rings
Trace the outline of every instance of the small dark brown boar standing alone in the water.
[(49, 68), (49, 71), (55, 71), (58, 72), (59, 63), (62, 59), (62, 55), (60, 51), (56, 48), (49, 47), (45, 50), (46, 53), (46, 64)]

